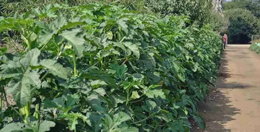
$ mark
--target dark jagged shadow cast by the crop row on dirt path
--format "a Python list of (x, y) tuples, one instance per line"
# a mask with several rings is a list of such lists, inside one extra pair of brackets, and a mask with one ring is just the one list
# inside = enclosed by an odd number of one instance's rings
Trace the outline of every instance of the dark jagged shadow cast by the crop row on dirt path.
[[(230, 50), (228, 52), (235, 51)], [(226, 94), (223, 92), (223, 89), (228, 91), (234, 88), (253, 87), (249, 84), (226, 81), (227, 78), (232, 77), (228, 69), (228, 62), (232, 60), (228, 60), (226, 55), (225, 51), (221, 60), (219, 78), (215, 83), (216, 87), (210, 89), (206, 97), (206, 103), (199, 105), (199, 115), (201, 115), (206, 122), (206, 130), (203, 132), (230, 132), (230, 129), (225, 128), (225, 123), (234, 120), (234, 118), (232, 118), (234, 115), (240, 114), (240, 109), (229, 104), (231, 101), (229, 97), (225, 96)], [(202, 132), (202, 130), (198, 129), (196, 122), (192, 122), (192, 125), (194, 126), (191, 132)]]

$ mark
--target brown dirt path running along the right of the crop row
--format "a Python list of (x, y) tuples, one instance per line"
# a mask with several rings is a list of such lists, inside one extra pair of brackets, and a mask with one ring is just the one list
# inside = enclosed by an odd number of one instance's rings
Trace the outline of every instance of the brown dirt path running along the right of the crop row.
[(204, 132), (260, 132), (260, 56), (249, 46), (226, 47), (222, 77), (199, 109), (206, 121)]

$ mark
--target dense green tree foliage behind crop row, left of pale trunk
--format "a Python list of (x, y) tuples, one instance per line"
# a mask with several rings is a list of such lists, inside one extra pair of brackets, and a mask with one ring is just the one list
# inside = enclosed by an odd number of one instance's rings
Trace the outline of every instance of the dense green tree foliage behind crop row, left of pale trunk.
[(199, 25), (209, 22), (212, 0), (146, 0), (146, 6), (163, 15), (185, 14)]

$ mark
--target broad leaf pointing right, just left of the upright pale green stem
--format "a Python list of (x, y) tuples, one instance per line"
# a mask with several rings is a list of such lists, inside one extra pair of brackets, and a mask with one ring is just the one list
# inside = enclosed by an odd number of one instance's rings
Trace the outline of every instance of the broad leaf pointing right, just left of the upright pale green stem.
[(70, 76), (69, 70), (67, 68), (64, 68), (56, 60), (44, 59), (40, 62), (40, 64), (49, 69), (50, 73), (54, 76), (58, 76), (63, 79), (67, 79), (68, 76)]

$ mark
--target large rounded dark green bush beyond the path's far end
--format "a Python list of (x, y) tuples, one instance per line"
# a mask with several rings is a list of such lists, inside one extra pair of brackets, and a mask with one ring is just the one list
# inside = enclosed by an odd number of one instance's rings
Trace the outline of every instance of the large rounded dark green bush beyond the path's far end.
[(231, 43), (246, 43), (251, 35), (260, 31), (260, 21), (249, 10), (234, 9), (226, 13), (229, 17), (228, 38)]

